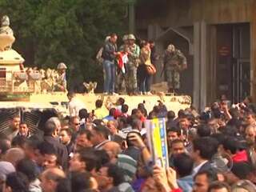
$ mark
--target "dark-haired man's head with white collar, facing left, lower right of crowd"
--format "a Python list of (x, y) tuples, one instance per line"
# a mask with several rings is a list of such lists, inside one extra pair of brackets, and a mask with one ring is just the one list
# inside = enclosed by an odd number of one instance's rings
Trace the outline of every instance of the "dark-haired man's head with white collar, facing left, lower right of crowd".
[(193, 152), (191, 157), (194, 159), (193, 175), (198, 171), (211, 170), (210, 159), (218, 151), (218, 142), (214, 138), (196, 138), (193, 141)]

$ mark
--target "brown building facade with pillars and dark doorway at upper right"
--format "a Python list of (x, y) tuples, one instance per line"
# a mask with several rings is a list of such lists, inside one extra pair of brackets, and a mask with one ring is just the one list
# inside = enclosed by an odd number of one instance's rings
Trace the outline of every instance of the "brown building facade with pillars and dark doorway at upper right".
[[(202, 109), (222, 94), (232, 102), (256, 100), (255, 0), (142, 1), (136, 33), (153, 39), (160, 55), (170, 43), (186, 55), (182, 92), (194, 106)], [(161, 82), (162, 59), (157, 69), (154, 82)]]

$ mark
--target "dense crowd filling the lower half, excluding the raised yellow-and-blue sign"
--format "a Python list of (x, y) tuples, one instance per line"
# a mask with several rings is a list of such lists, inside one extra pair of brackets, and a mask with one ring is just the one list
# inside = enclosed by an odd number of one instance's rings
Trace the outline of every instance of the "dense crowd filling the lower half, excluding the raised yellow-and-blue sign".
[[(250, 97), (233, 106), (222, 99), (202, 113), (191, 106), (175, 114), (162, 102), (128, 111), (123, 98), (108, 109), (97, 100), (95, 110), (51, 117), (37, 133), (14, 115), (0, 139), (1, 191), (256, 191)], [(166, 118), (167, 169), (152, 163), (145, 128), (152, 118)]]

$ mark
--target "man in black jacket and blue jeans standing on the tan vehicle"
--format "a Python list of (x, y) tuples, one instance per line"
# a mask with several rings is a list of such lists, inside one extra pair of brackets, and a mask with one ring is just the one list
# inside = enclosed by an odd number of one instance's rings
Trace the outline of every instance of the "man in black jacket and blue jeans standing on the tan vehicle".
[(114, 59), (118, 51), (116, 45), (117, 40), (117, 34), (111, 34), (110, 39), (106, 42), (102, 51), (103, 69), (106, 75), (104, 79), (104, 94), (114, 94), (114, 81), (116, 74)]

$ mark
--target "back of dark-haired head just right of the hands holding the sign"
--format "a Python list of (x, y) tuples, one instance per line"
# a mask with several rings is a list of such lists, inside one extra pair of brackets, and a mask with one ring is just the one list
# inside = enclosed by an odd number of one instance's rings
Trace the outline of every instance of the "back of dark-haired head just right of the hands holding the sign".
[(178, 177), (183, 178), (191, 174), (194, 166), (194, 161), (189, 154), (177, 154), (174, 156), (174, 168), (177, 171)]

